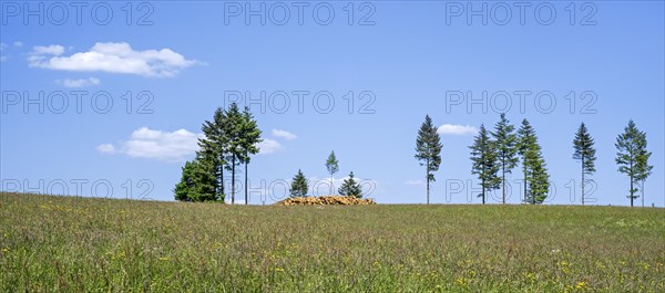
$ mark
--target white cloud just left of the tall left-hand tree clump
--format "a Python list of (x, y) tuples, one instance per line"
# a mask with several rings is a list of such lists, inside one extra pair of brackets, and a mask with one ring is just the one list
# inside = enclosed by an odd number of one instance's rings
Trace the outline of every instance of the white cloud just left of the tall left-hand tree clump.
[(104, 144), (96, 147), (105, 154), (125, 154), (134, 158), (163, 161), (184, 161), (198, 150), (201, 135), (178, 129), (172, 133), (142, 127), (134, 130), (129, 140), (117, 147)]

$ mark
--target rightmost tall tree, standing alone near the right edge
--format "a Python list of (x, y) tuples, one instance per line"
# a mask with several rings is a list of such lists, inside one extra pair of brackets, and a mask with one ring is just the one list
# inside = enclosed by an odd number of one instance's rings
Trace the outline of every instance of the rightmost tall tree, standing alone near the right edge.
[(640, 196), (636, 184), (646, 179), (651, 174), (652, 167), (648, 166), (651, 153), (646, 150), (646, 134), (637, 129), (635, 123), (631, 119), (624, 133), (616, 137), (614, 146), (617, 149), (615, 161), (618, 165), (618, 171), (628, 176), (631, 180), (630, 196), (631, 207), (634, 207), (634, 200)]

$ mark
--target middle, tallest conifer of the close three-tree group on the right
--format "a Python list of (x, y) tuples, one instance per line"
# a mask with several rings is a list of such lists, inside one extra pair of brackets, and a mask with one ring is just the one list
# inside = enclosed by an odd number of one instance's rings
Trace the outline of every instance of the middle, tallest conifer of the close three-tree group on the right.
[(514, 133), (515, 127), (510, 125), (505, 118), (505, 114), (501, 114), (501, 121), (494, 126), (494, 132), (491, 133), (494, 142), (497, 142), (498, 161), (501, 165), (501, 185), (502, 185), (502, 202), (505, 205), (505, 174), (512, 172), (512, 169), (518, 165), (516, 156), (518, 136)]

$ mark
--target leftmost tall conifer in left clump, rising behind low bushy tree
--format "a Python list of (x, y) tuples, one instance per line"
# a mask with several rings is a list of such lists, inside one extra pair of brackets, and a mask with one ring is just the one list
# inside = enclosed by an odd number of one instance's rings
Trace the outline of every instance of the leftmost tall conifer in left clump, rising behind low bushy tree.
[(226, 154), (228, 151), (228, 138), (224, 133), (226, 114), (222, 108), (217, 108), (212, 121), (205, 121), (201, 127), (204, 138), (198, 139), (201, 155), (213, 165), (214, 176), (217, 180), (217, 197), (224, 200), (224, 168), (226, 165)]

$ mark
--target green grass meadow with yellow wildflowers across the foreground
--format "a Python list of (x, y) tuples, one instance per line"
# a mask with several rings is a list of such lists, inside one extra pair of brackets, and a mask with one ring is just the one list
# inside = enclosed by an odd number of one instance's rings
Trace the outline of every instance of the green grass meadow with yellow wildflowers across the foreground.
[(2, 292), (665, 292), (665, 209), (0, 193)]

